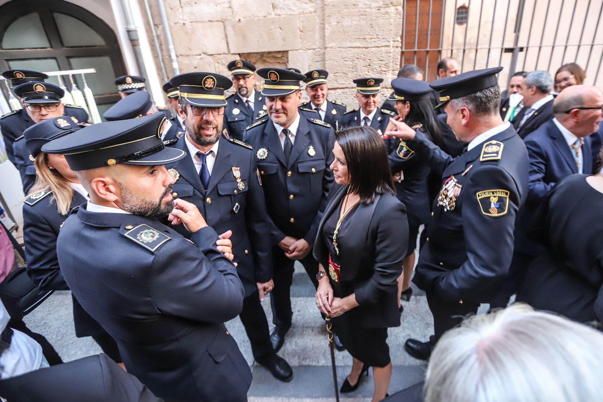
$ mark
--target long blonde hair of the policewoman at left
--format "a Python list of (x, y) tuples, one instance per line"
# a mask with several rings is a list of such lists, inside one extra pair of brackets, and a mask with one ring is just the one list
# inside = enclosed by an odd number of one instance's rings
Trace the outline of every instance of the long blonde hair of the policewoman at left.
[(56, 169), (48, 167), (48, 155), (40, 152), (34, 159), (36, 167), (36, 182), (27, 194), (30, 197), (32, 194), (40, 191), (52, 191), (50, 202), (57, 203), (58, 213), (66, 215), (71, 210), (71, 199), (74, 195), (74, 190), (69, 185), (69, 182)]

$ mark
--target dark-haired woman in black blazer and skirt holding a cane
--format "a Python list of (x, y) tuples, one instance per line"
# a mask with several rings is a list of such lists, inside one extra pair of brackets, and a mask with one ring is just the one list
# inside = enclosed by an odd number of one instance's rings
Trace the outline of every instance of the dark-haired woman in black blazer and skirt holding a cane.
[(353, 357), (341, 392), (358, 388), (373, 367), (373, 401), (391, 378), (387, 328), (400, 325), (397, 281), (408, 247), (406, 208), (397, 199), (387, 149), (372, 127), (339, 131), (330, 168), (338, 186), (318, 226), (316, 304)]

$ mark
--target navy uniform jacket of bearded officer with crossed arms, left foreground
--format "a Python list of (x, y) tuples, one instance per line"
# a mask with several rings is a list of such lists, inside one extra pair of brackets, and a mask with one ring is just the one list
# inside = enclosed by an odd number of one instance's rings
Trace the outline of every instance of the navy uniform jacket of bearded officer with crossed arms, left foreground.
[(244, 401), (251, 372), (224, 322), (242, 310), (236, 268), (207, 226), (188, 240), (155, 219), (72, 211), (63, 278), (116, 340), (128, 373), (172, 401)]

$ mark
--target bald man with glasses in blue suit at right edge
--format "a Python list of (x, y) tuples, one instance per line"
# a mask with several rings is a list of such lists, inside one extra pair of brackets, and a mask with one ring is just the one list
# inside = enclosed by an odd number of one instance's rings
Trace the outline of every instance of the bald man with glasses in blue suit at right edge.
[(543, 197), (570, 174), (593, 173), (592, 138), (603, 121), (603, 93), (594, 86), (569, 86), (555, 98), (553, 118), (524, 139), (529, 156), (528, 200), (517, 217), (515, 249), (507, 286), (491, 307), (506, 307), (523, 281), (523, 272), (542, 250), (526, 237)]

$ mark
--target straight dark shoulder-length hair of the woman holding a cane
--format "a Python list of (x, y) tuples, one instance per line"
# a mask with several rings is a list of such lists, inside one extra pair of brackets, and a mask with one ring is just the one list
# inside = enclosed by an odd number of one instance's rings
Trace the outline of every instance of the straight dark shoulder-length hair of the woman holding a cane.
[(396, 194), (385, 142), (370, 126), (344, 127), (335, 139), (346, 157), (350, 192), (370, 204), (377, 194)]

